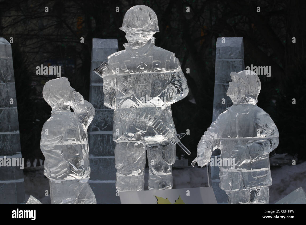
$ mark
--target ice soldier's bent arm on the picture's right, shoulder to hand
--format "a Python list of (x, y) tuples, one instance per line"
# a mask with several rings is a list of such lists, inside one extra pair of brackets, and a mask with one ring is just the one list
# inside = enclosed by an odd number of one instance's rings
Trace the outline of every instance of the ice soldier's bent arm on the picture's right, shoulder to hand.
[(170, 79), (170, 84), (158, 95), (166, 106), (185, 98), (189, 91), (187, 80), (181, 70), (180, 62), (175, 55), (170, 57), (169, 65), (170, 69), (174, 71)]

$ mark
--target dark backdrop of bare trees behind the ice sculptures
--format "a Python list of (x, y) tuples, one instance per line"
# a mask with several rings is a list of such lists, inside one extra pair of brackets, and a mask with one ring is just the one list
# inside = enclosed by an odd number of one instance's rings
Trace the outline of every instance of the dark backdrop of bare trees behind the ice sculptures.
[[(92, 38), (118, 39), (119, 50), (123, 50), (127, 41), (119, 27), (134, 5), (147, 5), (155, 11), (160, 30), (154, 35), (155, 45), (176, 54), (187, 78), (189, 94), (172, 105), (172, 112), (177, 133), (190, 130), (190, 135), (181, 139), (192, 152), (185, 154), (189, 163), (212, 122), (218, 37), (243, 37), (245, 66), (271, 66), (271, 77), (259, 75), (262, 88), (257, 104), (279, 130), (280, 144), (271, 154), (289, 153), (297, 162), (306, 159), (305, 1), (0, 0), (0, 36), (8, 41), (13, 37), (21, 151), (31, 166), (39, 166), (39, 160), (36, 165), (34, 160), (43, 159), (40, 133), (51, 111), (42, 98), (42, 88), (55, 78), (36, 75), (36, 66), (62, 65), (62, 77), (68, 77), (71, 86), (88, 100)], [(258, 6), (260, 13), (256, 12)], [(292, 43), (293, 37), (296, 43)], [(293, 98), (296, 104), (292, 104)], [(177, 155), (181, 154), (177, 148)]]

